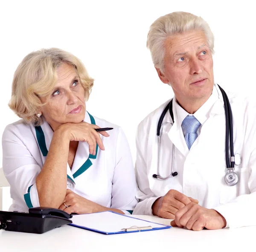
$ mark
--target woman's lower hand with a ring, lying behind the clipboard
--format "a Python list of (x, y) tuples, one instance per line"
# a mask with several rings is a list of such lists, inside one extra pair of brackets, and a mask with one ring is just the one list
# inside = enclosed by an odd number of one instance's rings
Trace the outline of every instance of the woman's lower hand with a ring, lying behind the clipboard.
[[(65, 204), (64, 204), (65, 203)], [(73, 191), (67, 189), (66, 197), (64, 199), (64, 203), (61, 204), (59, 209), (71, 214), (91, 214), (100, 211), (108, 211), (109, 209), (100, 206), (97, 203), (94, 203), (90, 200), (85, 199), (84, 197), (79, 196)], [(66, 207), (66, 206), (68, 207)]]

